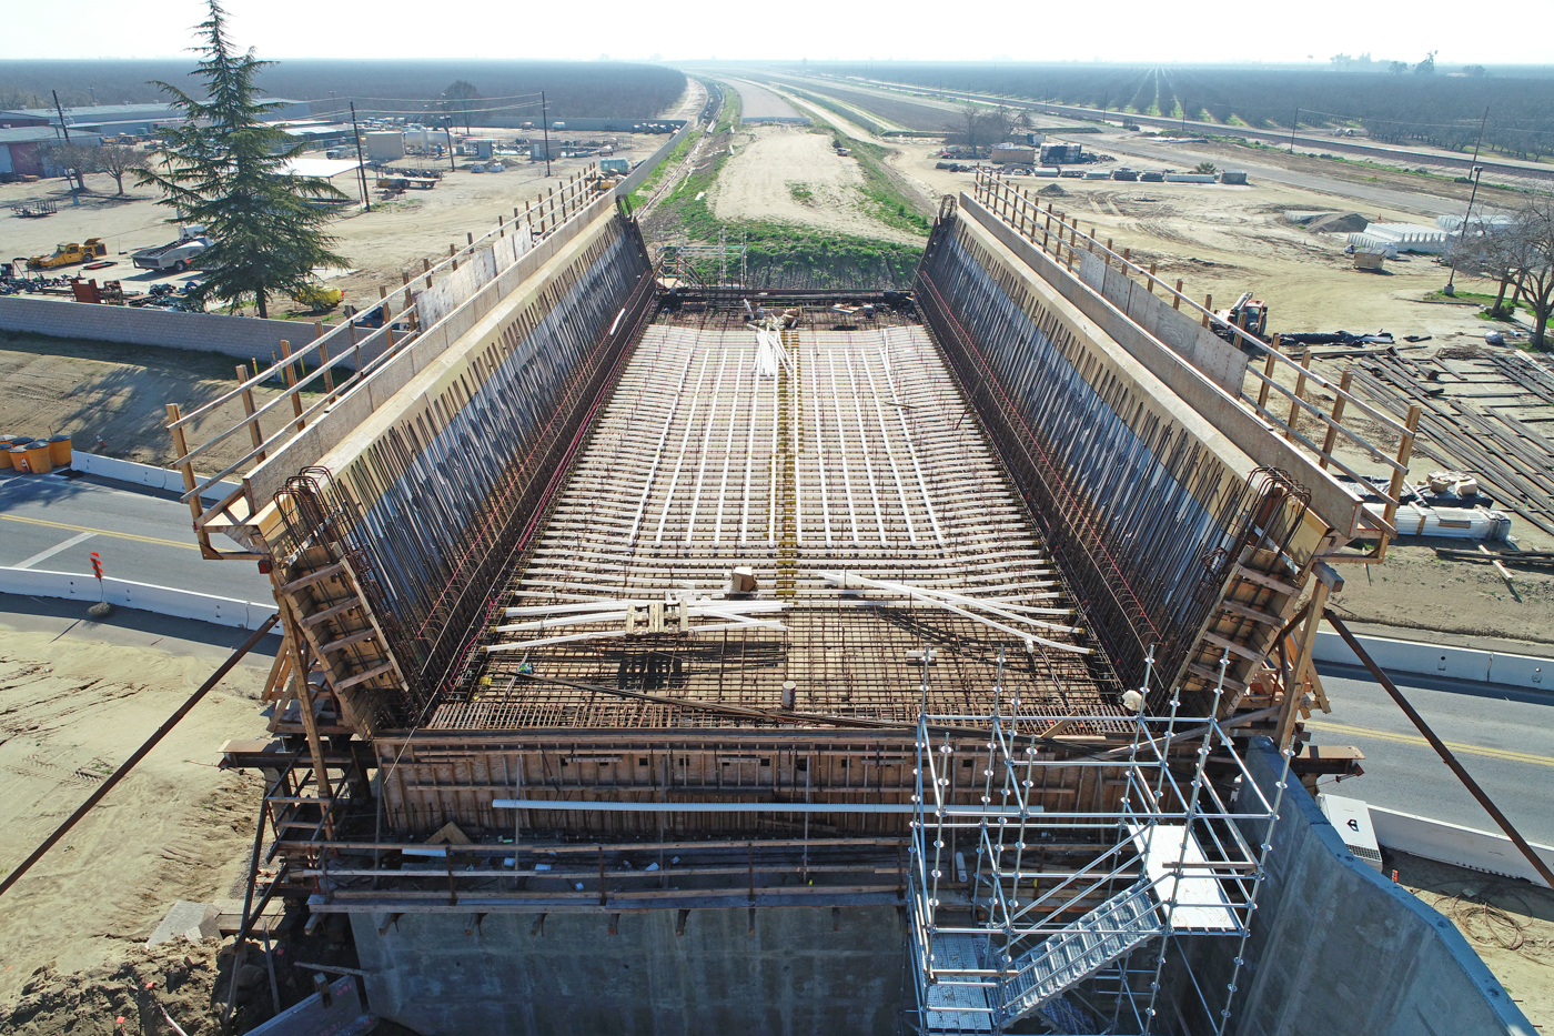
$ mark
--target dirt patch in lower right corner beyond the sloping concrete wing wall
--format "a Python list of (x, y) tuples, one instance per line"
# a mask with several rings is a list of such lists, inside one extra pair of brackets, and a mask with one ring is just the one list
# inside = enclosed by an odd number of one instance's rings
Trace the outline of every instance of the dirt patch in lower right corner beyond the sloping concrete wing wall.
[(1456, 924), (1534, 1028), (1554, 1031), (1554, 893), (1406, 852), (1383, 866)]

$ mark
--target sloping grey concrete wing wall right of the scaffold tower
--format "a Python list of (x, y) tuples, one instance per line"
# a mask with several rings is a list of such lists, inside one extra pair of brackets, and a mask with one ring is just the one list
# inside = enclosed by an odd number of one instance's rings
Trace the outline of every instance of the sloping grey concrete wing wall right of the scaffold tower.
[[(1265, 737), (1246, 756), (1270, 801), (1279, 762)], [(1254, 845), (1263, 837), (1262, 829), (1246, 834)], [(1357, 860), (1296, 781), (1285, 790), (1273, 846), (1228, 1031), (1534, 1036), (1456, 927)], [(1197, 941), (1195, 971), (1220, 1002), (1235, 946)]]

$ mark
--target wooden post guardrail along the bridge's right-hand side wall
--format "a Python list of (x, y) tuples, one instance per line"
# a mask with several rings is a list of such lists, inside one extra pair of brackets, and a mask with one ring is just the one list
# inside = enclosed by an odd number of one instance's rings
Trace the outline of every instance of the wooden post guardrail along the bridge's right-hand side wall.
[[(1150, 294), (1155, 294), (1158, 286), (1161, 297), (1170, 302), (1173, 310), (1197, 316), (1204, 328), (1218, 328), (1221, 334), (1228, 333), (1232, 344), (1240, 345), (1243, 350), (1249, 350), (1254, 356), (1263, 353), (1265, 362), (1262, 370), (1254, 366), (1248, 366), (1246, 369), (1246, 375), (1257, 383), (1256, 392), (1248, 392), (1243, 378), (1242, 384), (1235, 387), (1234, 392), (1228, 390), (1228, 395), (1257, 415), (1257, 418), (1268, 425), (1271, 431), (1282, 434), (1287, 442), (1310, 453), (1316, 459), (1318, 467), (1322, 470), (1329, 470), (1329, 467), (1336, 468), (1355, 479), (1357, 490), (1364, 487), (1368, 490), (1374, 490), (1383, 498), (1380, 515), (1374, 515), (1369, 510), (1366, 512), (1371, 529), (1378, 534), (1378, 544), (1375, 551), (1372, 551), (1372, 554), (1330, 555), (1326, 560), (1380, 560), (1385, 555), (1386, 540), (1394, 530), (1403, 478), (1408, 474), (1408, 459), (1413, 456), (1414, 436), (1419, 428), (1422, 408), (1417, 404), (1413, 406), (1408, 418), (1405, 422), (1399, 422), (1385, 409), (1372, 406), (1371, 403), (1366, 403), (1360, 397), (1354, 395), (1349, 390), (1350, 376), (1347, 372), (1343, 378), (1340, 378), (1340, 381), (1335, 383), (1330, 378), (1312, 370), (1310, 348), (1305, 348), (1301, 353), (1301, 359), (1294, 359), (1279, 348), (1277, 334), (1274, 334), (1273, 342), (1270, 344), (1246, 333), (1245, 328), (1225, 320), (1209, 308), (1214, 305), (1212, 296), (1207, 299), (1207, 305), (1193, 302), (1183, 294), (1183, 282), (1179, 278), (1175, 286), (1167, 285), (1164, 280), (1156, 277), (1156, 266), (1153, 263), (1150, 264), (1150, 269), (1144, 269), (1133, 261), (1131, 249), (1124, 249), (1120, 254), (1113, 250), (1110, 241), (1102, 244), (1100, 240), (1094, 236), (1094, 227), (1091, 229), (1091, 233), (1083, 233), (1078, 229), (1077, 216), (1057, 210), (1055, 204), (1051, 201), (1047, 202), (1047, 207), (1043, 208), (1040, 201), (1033, 201), (1029, 193), (996, 176), (990, 170), (977, 170), (973, 196), (993, 212), (993, 215), (1009, 224), (1026, 241), (1052, 255), (1054, 260), (1064, 266), (1071, 274), (1077, 275), (1075, 263), (1080, 261), (1082, 255), (1096, 255), (1108, 268), (1120, 271), (1128, 278), (1138, 278), (1142, 282)], [(1280, 369), (1284, 373), (1294, 373), (1293, 390), (1277, 380), (1276, 375)], [(1332, 392), (1333, 404), (1330, 411), (1324, 411), (1305, 400), (1307, 384), (1316, 384), (1327, 392)], [(1270, 409), (1270, 397), (1273, 394), (1279, 394), (1290, 401), (1290, 412), (1287, 415), (1276, 414)], [(1366, 436), (1347, 426), (1344, 423), (1344, 417), (1350, 411), (1357, 411), (1369, 422), (1382, 426), (1385, 431), (1394, 432), (1399, 437), (1395, 454), (1388, 456)], [(1302, 414), (1316, 418), (1326, 426), (1321, 445), (1299, 431), (1298, 423)], [(1371, 482), (1368, 476), (1344, 462), (1343, 457), (1336, 456), (1335, 446), (1340, 439), (1389, 470), (1389, 482), (1385, 492)]]

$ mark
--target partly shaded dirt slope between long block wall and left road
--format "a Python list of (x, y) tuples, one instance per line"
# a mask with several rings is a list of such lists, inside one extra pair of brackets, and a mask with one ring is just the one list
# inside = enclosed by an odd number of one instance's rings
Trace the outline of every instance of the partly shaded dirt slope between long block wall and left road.
[[(62, 303), (64, 305), (64, 303)], [(260, 358), (269, 362), (269, 358)], [(76, 450), (166, 467), (177, 459), (166, 431), (168, 403), (183, 412), (230, 392), (236, 362), (218, 353), (188, 353), (149, 345), (118, 345), (0, 331), (0, 429), (22, 436), (68, 432)], [(253, 390), (264, 406), (280, 389)], [(312, 394), (303, 394), (309, 406)], [(205, 442), (242, 418), (233, 400), (194, 422), (190, 442)], [(281, 428), (264, 417), (264, 434)], [(252, 450), (247, 434), (218, 443), (196, 460), (196, 473), (214, 474)]]

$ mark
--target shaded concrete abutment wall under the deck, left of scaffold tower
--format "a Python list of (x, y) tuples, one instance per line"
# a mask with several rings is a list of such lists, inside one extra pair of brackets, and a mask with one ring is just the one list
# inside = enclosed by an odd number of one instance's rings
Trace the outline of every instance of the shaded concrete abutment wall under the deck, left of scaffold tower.
[(894, 907), (626, 913), (353, 913), (371, 1010), (424, 1036), (895, 1036), (906, 1006)]

